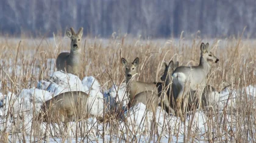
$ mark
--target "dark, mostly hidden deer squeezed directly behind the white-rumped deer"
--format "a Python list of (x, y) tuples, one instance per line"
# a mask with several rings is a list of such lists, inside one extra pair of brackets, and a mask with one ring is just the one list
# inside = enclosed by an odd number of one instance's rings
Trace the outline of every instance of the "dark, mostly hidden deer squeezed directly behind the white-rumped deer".
[(163, 72), (163, 75), (161, 77), (161, 80), (163, 82), (165, 82), (165, 92), (166, 95), (164, 96), (163, 103), (165, 104), (165, 106), (169, 106), (169, 109), (171, 109), (171, 111), (168, 111), (168, 113), (174, 113), (174, 98), (173, 98), (173, 93), (174, 90), (172, 90), (172, 86), (173, 84), (171, 83), (172, 80), (172, 72), (174, 71), (174, 69), (177, 68), (177, 66), (179, 66), (179, 62), (176, 61), (176, 63), (174, 64), (173, 61), (171, 60), (169, 63), (165, 62), (165, 71)]

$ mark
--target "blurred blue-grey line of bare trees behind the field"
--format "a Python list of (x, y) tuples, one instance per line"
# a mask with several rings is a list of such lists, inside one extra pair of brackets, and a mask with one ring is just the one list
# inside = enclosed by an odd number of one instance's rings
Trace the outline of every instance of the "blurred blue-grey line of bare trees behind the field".
[(255, 37), (254, 0), (0, 0), (0, 33), (19, 35), (83, 26), (85, 35), (179, 37), (200, 30), (208, 37)]

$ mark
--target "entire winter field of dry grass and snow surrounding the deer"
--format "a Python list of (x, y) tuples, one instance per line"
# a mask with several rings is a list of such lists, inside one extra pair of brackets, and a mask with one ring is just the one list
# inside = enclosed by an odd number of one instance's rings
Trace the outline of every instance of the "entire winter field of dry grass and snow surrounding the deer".
[[(202, 42), (219, 58), (207, 80), (218, 91), (212, 106), (188, 112), (185, 122), (160, 106), (155, 121), (143, 103), (126, 110), (121, 57), (140, 58), (139, 81), (160, 82), (163, 61), (198, 65)], [(69, 45), (63, 37), (0, 38), (0, 142), (256, 142), (256, 40), (84, 37), (81, 77), (55, 71)], [(68, 133), (38, 120), (41, 105), (66, 91), (87, 92), (91, 106)]]

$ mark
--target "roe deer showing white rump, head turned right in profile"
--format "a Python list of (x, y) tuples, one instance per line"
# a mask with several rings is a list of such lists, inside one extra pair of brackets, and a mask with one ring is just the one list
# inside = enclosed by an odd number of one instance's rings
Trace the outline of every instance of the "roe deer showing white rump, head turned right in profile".
[[(181, 106), (183, 96), (188, 91), (196, 91), (199, 89), (197, 99), (201, 99), (202, 89), (207, 82), (207, 74), (210, 72), (212, 63), (218, 63), (219, 59), (210, 52), (209, 44), (201, 44), (201, 57), (198, 66), (180, 66), (172, 73), (172, 82), (175, 86), (174, 99), (176, 100), (176, 114), (182, 117)], [(200, 90), (201, 89), (201, 90)]]

